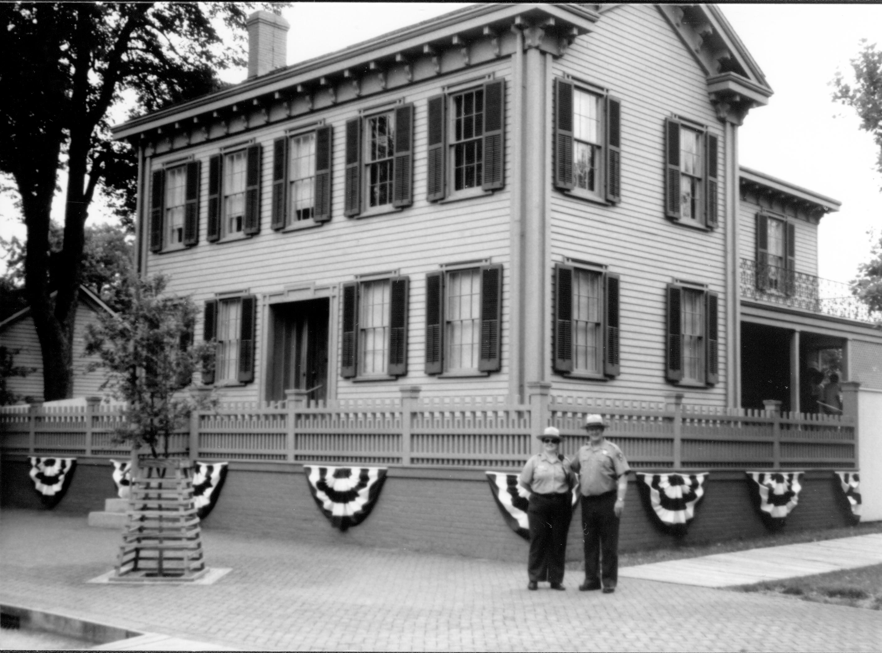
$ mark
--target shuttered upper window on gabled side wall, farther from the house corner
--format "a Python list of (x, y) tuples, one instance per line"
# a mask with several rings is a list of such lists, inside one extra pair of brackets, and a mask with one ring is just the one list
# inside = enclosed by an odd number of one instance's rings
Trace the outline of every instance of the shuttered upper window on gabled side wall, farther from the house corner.
[(713, 229), (720, 197), (719, 139), (705, 127), (665, 119), (665, 214), (677, 223)]

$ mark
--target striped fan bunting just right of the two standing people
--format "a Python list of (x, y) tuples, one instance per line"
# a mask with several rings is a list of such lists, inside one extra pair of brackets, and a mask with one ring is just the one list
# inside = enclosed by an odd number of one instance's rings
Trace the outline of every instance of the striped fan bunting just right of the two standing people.
[(666, 530), (685, 534), (686, 524), (705, 495), (706, 477), (706, 471), (687, 475), (637, 472), (637, 486), (658, 523)]

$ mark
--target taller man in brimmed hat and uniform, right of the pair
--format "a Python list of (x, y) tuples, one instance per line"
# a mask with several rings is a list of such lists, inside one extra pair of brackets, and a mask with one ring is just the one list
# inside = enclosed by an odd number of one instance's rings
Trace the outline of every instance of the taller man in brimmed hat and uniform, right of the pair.
[(616, 591), (618, 583), (618, 525), (624, 510), (631, 467), (622, 449), (603, 437), (607, 423), (588, 415), (588, 443), (572, 459), (582, 494), (582, 536), (585, 545), (585, 583), (579, 590)]

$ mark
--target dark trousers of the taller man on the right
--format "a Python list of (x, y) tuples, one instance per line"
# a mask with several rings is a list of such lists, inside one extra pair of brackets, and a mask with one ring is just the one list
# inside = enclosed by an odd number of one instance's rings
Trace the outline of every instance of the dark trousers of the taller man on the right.
[(603, 587), (618, 583), (618, 523), (616, 490), (582, 496), (582, 541), (585, 544), (585, 582)]

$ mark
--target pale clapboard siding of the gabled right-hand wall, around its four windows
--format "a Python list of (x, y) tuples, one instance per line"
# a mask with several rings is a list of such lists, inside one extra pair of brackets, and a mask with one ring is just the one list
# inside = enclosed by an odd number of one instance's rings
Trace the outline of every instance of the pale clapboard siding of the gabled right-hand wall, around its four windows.
[(721, 297), (724, 293), (725, 221), (706, 232), (665, 218), (664, 120), (671, 114), (704, 124), (719, 138), (718, 209), (724, 215), (725, 141), (707, 98), (704, 72), (658, 9), (634, 4), (603, 12), (594, 31), (576, 39), (553, 70), (556, 76), (570, 74), (601, 85), (622, 100), (621, 202), (607, 206), (558, 190), (551, 200), (552, 263), (571, 256), (608, 265), (621, 275), (621, 375), (604, 382), (552, 374), (553, 391), (654, 401), (676, 391), (689, 404), (724, 404), (722, 310), (720, 382), (708, 389), (665, 382), (666, 286), (678, 278), (706, 284)]

